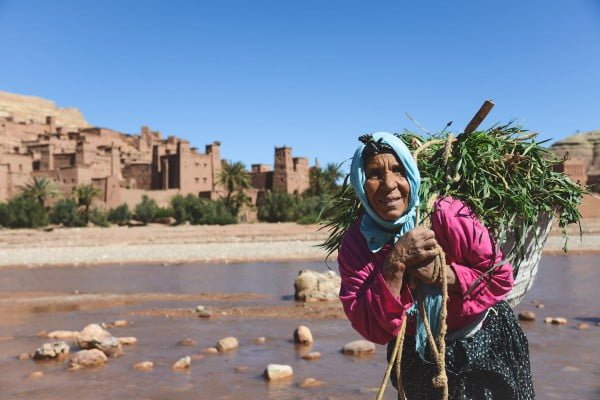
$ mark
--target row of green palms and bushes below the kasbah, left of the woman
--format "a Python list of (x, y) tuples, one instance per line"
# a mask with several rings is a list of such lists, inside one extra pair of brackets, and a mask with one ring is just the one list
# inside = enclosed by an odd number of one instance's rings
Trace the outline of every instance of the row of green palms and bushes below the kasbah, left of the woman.
[(247, 194), (250, 175), (244, 164), (235, 162), (226, 164), (219, 176), (219, 183), (226, 191), (223, 198), (176, 195), (167, 207), (160, 207), (144, 195), (133, 210), (125, 203), (108, 210), (94, 207), (94, 200), (102, 193), (91, 184), (76, 186), (68, 197), (60, 198), (60, 191), (51, 180), (35, 177), (21, 194), (0, 203), (0, 226), (41, 228), (48, 224), (65, 227), (92, 224), (106, 227), (130, 225), (135, 221), (144, 225), (151, 222), (227, 225), (237, 223), (247, 210), (256, 210), (259, 221), (312, 224), (326, 217), (321, 210), (339, 189), (340, 177), (339, 166), (335, 164), (324, 169), (313, 168), (310, 187), (304, 194), (267, 191), (261, 193), (254, 208)]

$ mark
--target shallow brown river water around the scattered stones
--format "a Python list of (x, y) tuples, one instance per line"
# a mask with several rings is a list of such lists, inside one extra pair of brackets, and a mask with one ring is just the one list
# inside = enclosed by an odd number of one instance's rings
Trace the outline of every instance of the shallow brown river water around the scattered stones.
[[(539, 399), (600, 398), (599, 261), (598, 256), (543, 257), (535, 286), (516, 310), (537, 314), (537, 320), (523, 323), (523, 328), (530, 341)], [(229, 306), (290, 305), (293, 279), (305, 268), (325, 269), (321, 263), (298, 262), (0, 269), (0, 399), (375, 398), (374, 388), (385, 369), (384, 348), (378, 347), (376, 355), (368, 358), (343, 356), (340, 348), (359, 338), (345, 320), (294, 319), (293, 312), (288, 318), (211, 320), (136, 312), (219, 304), (217, 300), (194, 301), (192, 295), (200, 292), (263, 295), (234, 299)], [(75, 291), (78, 294), (74, 295)], [(86, 301), (77, 301), (77, 296)], [(531, 303), (534, 300), (545, 308), (536, 309)], [(569, 324), (546, 325), (545, 316), (566, 317)], [(109, 359), (104, 367), (67, 372), (65, 363), (16, 358), (51, 341), (37, 337), (38, 331), (80, 330), (88, 323), (116, 319), (133, 324), (111, 332), (135, 336), (138, 344), (126, 347), (122, 357)], [(576, 329), (578, 322), (587, 322), (589, 329)], [(320, 360), (302, 360), (308, 349), (291, 343), (292, 332), (300, 324), (310, 326), (315, 336), (311, 350), (321, 352)], [(188, 372), (171, 370), (178, 358), (214, 346), (230, 335), (240, 342), (237, 351), (193, 361)], [(254, 343), (259, 336), (266, 336), (267, 343)], [(186, 337), (198, 345), (179, 346), (177, 342)], [(134, 363), (144, 360), (155, 363), (153, 371), (132, 370)], [(266, 383), (261, 374), (269, 363), (291, 365), (293, 380)], [(238, 366), (247, 370), (236, 372)], [(37, 370), (44, 376), (26, 378)], [(326, 384), (300, 388), (298, 383), (307, 377)], [(386, 399), (393, 398), (393, 390), (388, 389)]]

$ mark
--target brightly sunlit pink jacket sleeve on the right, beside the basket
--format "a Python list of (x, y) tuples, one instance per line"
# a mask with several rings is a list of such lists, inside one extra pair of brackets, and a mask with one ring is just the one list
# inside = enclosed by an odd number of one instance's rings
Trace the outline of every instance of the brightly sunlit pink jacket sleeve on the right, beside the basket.
[(439, 200), (431, 227), (460, 285), (462, 299), (451, 305), (458, 315), (479, 314), (506, 298), (513, 286), (512, 266), (503, 263), (489, 231), (466, 204)]

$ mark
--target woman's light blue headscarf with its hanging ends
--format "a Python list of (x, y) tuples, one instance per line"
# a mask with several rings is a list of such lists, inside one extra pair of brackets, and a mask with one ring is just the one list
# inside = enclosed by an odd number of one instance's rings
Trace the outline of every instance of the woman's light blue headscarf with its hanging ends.
[[(360, 221), (360, 232), (367, 241), (369, 250), (373, 253), (378, 252), (386, 243), (396, 243), (396, 241), (405, 233), (415, 227), (417, 207), (419, 206), (419, 186), (421, 184), (421, 175), (417, 168), (417, 163), (414, 160), (408, 147), (397, 136), (388, 132), (376, 132), (373, 135), (375, 141), (381, 140), (392, 148), (398, 161), (404, 166), (406, 179), (410, 186), (408, 199), (408, 207), (406, 212), (395, 221), (387, 221), (379, 217), (375, 210), (371, 208), (367, 194), (365, 193), (365, 159), (363, 150), (365, 145), (361, 143), (354, 152), (352, 157), (352, 166), (350, 168), (350, 183), (354, 188), (356, 196), (360, 200), (361, 205), (366, 213), (363, 214)], [(429, 325), (435, 336), (439, 333), (439, 315), (442, 306), (442, 295), (439, 287), (435, 285), (422, 285), (424, 293), (424, 304), (427, 310)], [(413, 304), (409, 314), (417, 317), (417, 332), (416, 350), (425, 359), (425, 348), (427, 346), (427, 332), (421, 316), (417, 312), (416, 303)]]

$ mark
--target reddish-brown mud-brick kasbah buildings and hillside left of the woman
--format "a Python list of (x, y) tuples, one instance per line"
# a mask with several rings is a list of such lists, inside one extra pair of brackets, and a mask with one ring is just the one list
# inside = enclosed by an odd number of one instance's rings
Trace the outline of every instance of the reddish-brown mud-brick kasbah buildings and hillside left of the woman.
[[(302, 193), (309, 187), (306, 158), (281, 147), (274, 161), (274, 168), (252, 165), (248, 194), (254, 204), (267, 190)], [(132, 208), (143, 195), (161, 206), (176, 194), (216, 199), (226, 194), (218, 183), (224, 163), (218, 141), (200, 153), (188, 141), (163, 139), (148, 127), (136, 135), (91, 127), (76, 109), (0, 91), (0, 201), (19, 194), (34, 176), (53, 180), (65, 196), (94, 184), (111, 208)]]

